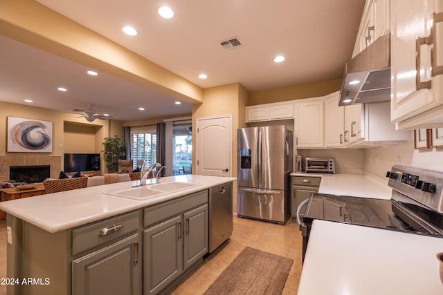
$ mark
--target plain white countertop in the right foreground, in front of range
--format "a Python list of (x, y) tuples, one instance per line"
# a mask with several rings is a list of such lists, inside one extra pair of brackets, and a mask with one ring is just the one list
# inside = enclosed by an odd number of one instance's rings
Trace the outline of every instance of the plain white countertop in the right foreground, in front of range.
[(441, 295), (439, 252), (443, 238), (314, 220), (298, 295)]

